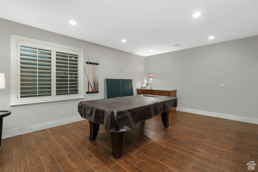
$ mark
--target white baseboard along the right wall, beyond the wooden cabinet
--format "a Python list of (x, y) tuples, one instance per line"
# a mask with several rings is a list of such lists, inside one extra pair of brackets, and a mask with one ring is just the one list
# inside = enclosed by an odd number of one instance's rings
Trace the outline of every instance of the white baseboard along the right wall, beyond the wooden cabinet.
[(206, 116), (211, 116), (211, 117), (231, 119), (231, 120), (236, 120), (236, 121), (258, 124), (258, 119), (255, 119), (255, 118), (240, 117), (240, 116), (228, 115), (228, 114), (223, 114), (223, 113), (207, 112), (207, 111), (202, 111), (202, 110), (194, 110), (194, 109), (179, 108), (179, 107), (177, 107), (176, 110), (182, 111), (182, 112), (206, 115)]

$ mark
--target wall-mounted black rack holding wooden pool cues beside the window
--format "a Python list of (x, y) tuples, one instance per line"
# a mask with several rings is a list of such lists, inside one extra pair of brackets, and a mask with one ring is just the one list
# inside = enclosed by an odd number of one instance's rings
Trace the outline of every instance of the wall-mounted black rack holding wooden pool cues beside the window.
[(86, 70), (83, 67), (88, 79), (88, 91), (86, 94), (99, 93), (99, 58), (90, 62), (90, 56), (88, 56), (86, 64)]

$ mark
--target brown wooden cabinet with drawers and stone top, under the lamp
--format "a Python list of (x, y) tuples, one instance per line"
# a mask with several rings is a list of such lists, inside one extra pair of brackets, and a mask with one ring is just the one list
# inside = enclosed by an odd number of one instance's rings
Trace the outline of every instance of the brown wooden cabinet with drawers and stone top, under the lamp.
[[(137, 88), (137, 95), (139, 94), (148, 94), (148, 95), (157, 95), (157, 96), (168, 96), (176, 97), (177, 89), (162, 89), (162, 88)], [(170, 112), (176, 111), (176, 107), (170, 110)]]

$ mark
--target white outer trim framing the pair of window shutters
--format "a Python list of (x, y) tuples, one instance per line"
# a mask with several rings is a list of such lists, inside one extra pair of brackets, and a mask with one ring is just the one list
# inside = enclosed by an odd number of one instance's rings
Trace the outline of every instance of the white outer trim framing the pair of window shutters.
[[(16, 57), (17, 56), (16, 55), (17, 54), (17, 40), (79, 51), (80, 52), (79, 73), (81, 75), (80, 83), (79, 83), (80, 97), (18, 103), (17, 102), (17, 95), (18, 95), (18, 93), (17, 93), (17, 88), (18, 88), (18, 86), (17, 86), (17, 57)], [(83, 92), (83, 49), (82, 48), (76, 48), (76, 47), (71, 47), (71, 46), (67, 46), (67, 45), (61, 45), (61, 44), (56, 44), (56, 43), (51, 43), (51, 42), (46, 42), (46, 41), (42, 41), (42, 40), (37, 40), (37, 39), (33, 39), (33, 38), (27, 38), (27, 37), (11, 34), (11, 97), (10, 97), (10, 100), (11, 100), (10, 106), (11, 107), (84, 99), (83, 94), (84, 94), (84, 92)]]

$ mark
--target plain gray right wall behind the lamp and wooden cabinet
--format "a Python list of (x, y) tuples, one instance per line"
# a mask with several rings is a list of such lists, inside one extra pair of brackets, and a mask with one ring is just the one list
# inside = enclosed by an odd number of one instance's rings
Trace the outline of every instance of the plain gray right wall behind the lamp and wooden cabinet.
[(258, 36), (147, 56), (148, 72), (178, 89), (178, 107), (258, 118)]

